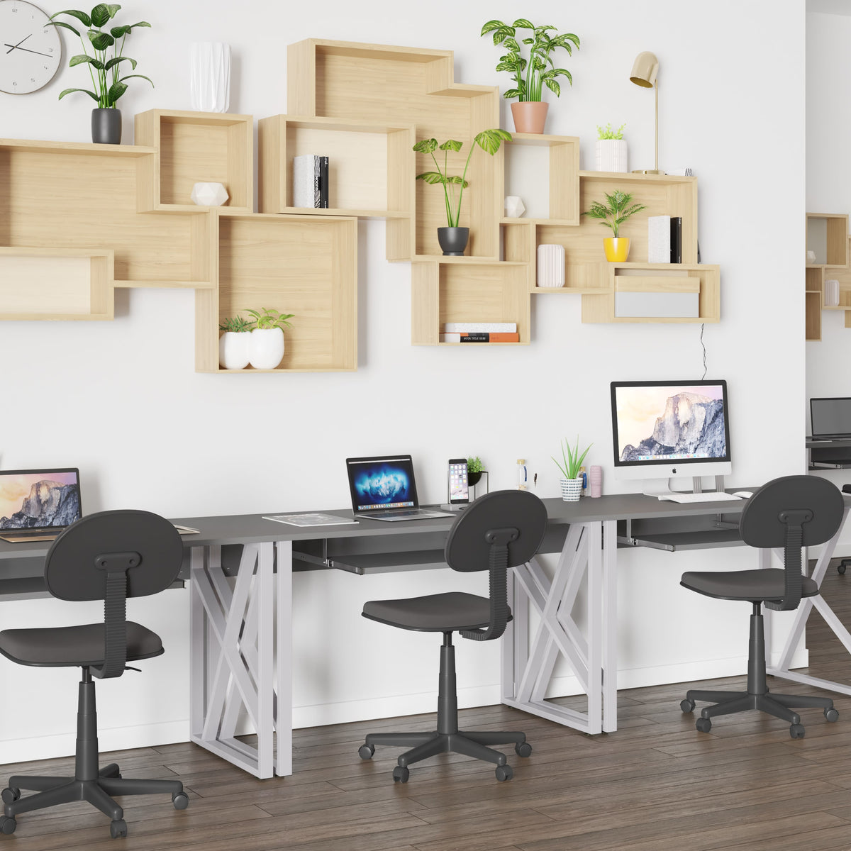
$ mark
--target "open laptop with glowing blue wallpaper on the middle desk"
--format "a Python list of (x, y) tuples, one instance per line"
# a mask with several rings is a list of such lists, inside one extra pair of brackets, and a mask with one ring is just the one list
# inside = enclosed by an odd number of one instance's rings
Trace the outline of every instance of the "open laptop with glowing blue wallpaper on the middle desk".
[(351, 491), (351, 511), (369, 520), (425, 520), (453, 517), (445, 511), (420, 508), (414, 463), (410, 455), (346, 458)]

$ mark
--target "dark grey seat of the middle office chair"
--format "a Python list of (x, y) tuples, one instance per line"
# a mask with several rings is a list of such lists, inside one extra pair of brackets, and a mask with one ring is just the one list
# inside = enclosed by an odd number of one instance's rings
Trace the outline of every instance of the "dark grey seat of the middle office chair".
[(371, 600), (363, 604), (363, 617), (420, 632), (483, 629), (490, 622), (490, 600), (461, 591), (404, 600)]

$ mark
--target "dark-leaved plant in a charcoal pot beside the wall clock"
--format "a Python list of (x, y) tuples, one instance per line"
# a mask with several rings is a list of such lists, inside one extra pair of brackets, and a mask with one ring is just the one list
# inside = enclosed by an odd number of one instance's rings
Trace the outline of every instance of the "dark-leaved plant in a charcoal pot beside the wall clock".
[[(127, 91), (126, 80), (140, 77), (153, 83), (144, 74), (122, 75), (122, 62), (129, 62), (135, 71), (136, 60), (124, 55), (124, 42), (130, 32), (139, 26), (151, 26), (146, 20), (140, 20), (137, 24), (124, 24), (123, 26), (112, 26), (107, 32), (106, 26), (118, 13), (121, 6), (117, 3), (98, 3), (90, 13), (81, 12), (79, 9), (66, 9), (50, 16), (54, 26), (64, 27), (71, 30), (83, 44), (83, 53), (71, 56), (68, 65), (88, 65), (89, 75), (92, 78), (92, 89), (65, 89), (60, 92), (59, 99), (62, 100), (66, 94), (71, 92), (85, 92), (98, 105), (92, 110), (92, 141), (102, 142), (109, 145), (118, 145), (121, 142), (121, 111), (117, 108), (118, 99)], [(70, 15), (88, 27), (86, 37), (89, 40), (89, 48), (86, 47), (86, 39), (77, 30), (61, 20), (54, 20), (60, 14)], [(111, 56), (107, 54), (111, 50)]]

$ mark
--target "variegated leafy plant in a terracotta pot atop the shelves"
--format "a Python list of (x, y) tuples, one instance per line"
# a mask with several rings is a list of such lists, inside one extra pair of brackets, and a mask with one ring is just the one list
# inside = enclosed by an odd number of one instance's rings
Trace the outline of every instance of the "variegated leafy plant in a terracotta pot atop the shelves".
[[(530, 36), (521, 39), (528, 46), (528, 59), (521, 55), (517, 30), (531, 31)], [(553, 31), (552, 35), (550, 31)], [(566, 77), (571, 85), (574, 83), (570, 71), (557, 68), (551, 54), (557, 49), (563, 49), (568, 52), (568, 56), (572, 55), (574, 47), (580, 47), (579, 36), (572, 32), (559, 34), (556, 27), (550, 25), (534, 26), (525, 18), (517, 18), (513, 24), (488, 20), (481, 34), (484, 36), (488, 32), (494, 33), (495, 45), (502, 45), (508, 51), (500, 56), (496, 70), (508, 71), (514, 78), (514, 87), (503, 95), (505, 98), (517, 98), (517, 103), (511, 104), (514, 129), (517, 133), (543, 133), (546, 112), (550, 106), (540, 100), (544, 86), (558, 97), (562, 94), (558, 77)]]

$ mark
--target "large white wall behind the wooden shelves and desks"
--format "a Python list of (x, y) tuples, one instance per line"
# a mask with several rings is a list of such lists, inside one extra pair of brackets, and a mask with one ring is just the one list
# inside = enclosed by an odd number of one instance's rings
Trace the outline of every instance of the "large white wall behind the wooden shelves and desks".
[[(567, 63), (574, 87), (552, 103), (548, 130), (581, 137), (583, 168), (592, 166), (595, 126), (608, 122), (626, 123), (631, 167), (652, 163), (653, 94), (628, 74), (642, 50), (660, 58), (660, 165), (694, 168), (702, 256), (722, 269), (722, 322), (705, 329), (708, 377), (729, 382), (731, 483), (742, 486), (802, 471), (804, 60), (790, 50), (789, 33), (801, 30), (804, 11), (802, 0), (771, 7), (766, 15), (762, 3), (733, 0), (611, 0), (605, 9), (529, 0), (522, 10), (582, 39)], [(151, 91), (135, 81), (122, 101), (128, 142), (134, 112), (189, 106), (189, 39), (231, 43), (231, 110), (263, 117), (286, 110), (286, 45), (306, 37), (454, 49), (458, 81), (507, 88), (494, 71), (499, 50), (478, 32), (490, 17), (518, 12), (516, 4), (447, 0), (416, 10), (368, 0), (138, 0), (125, 10), (153, 25), (134, 33), (128, 53), (157, 83)], [(83, 79), (80, 69), (65, 69), (41, 93), (0, 95), (0, 135), (88, 140), (89, 100), (56, 102)], [(507, 105), (503, 123), (510, 126)], [(782, 144), (767, 145), (755, 128), (772, 129)], [(446, 460), (458, 454), (482, 456), (492, 489), (511, 487), (515, 460), (524, 457), (539, 474), (537, 493), (555, 496), (550, 455), (561, 437), (580, 432), (594, 443), (588, 462), (603, 465), (604, 491), (629, 489), (612, 476), (608, 382), (700, 378), (700, 326), (583, 325), (578, 298), (542, 295), (534, 299), (532, 346), (413, 347), (409, 267), (387, 264), (383, 243), (382, 223), (360, 226), (355, 374), (196, 374), (189, 292), (119, 292), (114, 323), (3, 324), (0, 462), (79, 465), (87, 511), (132, 505), (186, 517), (343, 507), (346, 456), (388, 451), (414, 454), (424, 501), (443, 498)], [(785, 415), (768, 419), (778, 405)], [(744, 670), (741, 607), (706, 603), (677, 584), (684, 569), (718, 561), (713, 551), (622, 553), (623, 684)], [(724, 551), (723, 563), (753, 559)], [(296, 722), (432, 711), (436, 643), (408, 633), (391, 639), (359, 617), (360, 605), (480, 580), (300, 574)], [(142, 676), (101, 688), (104, 747), (186, 738), (186, 602), (186, 591), (155, 606), (134, 601), (131, 614), (163, 631), (167, 654), (146, 663)], [(0, 604), (4, 626), (94, 616), (56, 601)], [(462, 703), (498, 700), (498, 656), (496, 643), (461, 643)], [(15, 684), (0, 698), (0, 762), (68, 751), (75, 674), (23, 671), (4, 660), (0, 671)], [(168, 701), (154, 696), (163, 686)], [(49, 711), (38, 711), (40, 698)]]

